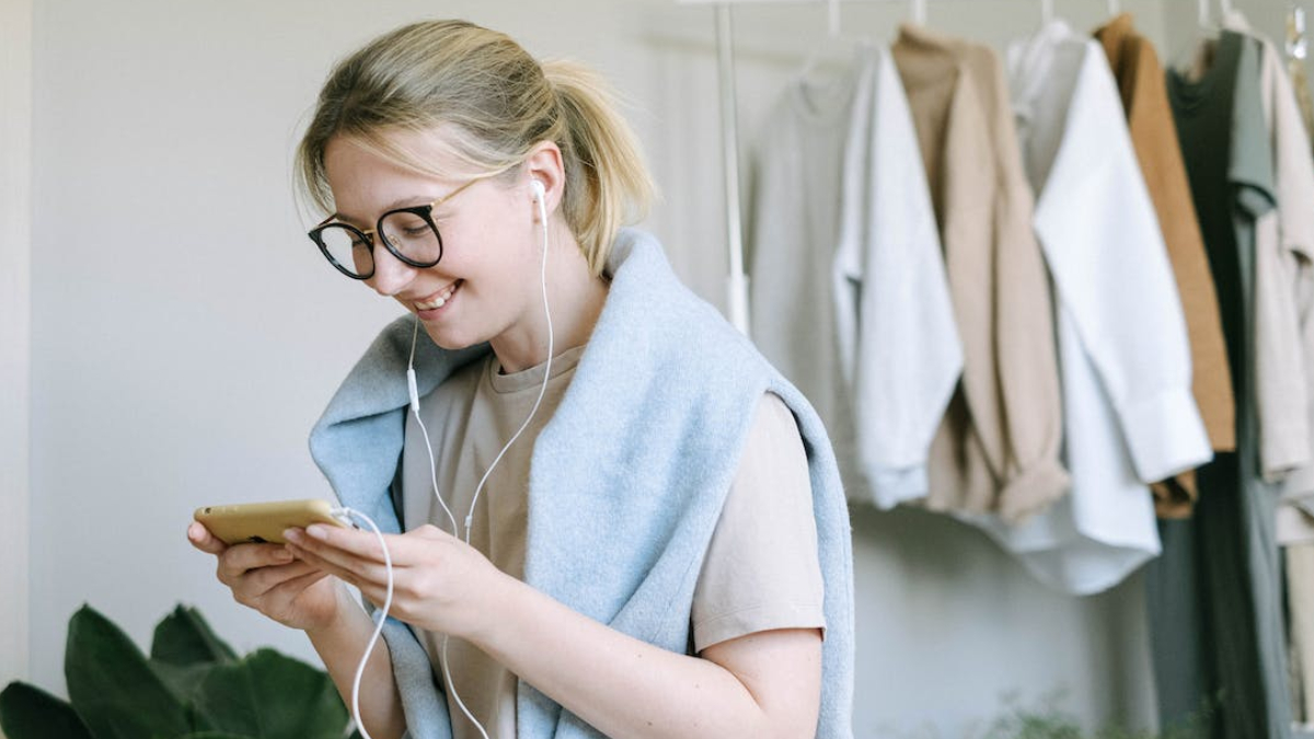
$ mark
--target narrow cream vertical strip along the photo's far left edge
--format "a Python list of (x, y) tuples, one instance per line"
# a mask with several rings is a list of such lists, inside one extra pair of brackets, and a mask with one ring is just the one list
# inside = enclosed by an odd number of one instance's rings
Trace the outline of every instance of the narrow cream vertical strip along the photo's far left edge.
[(0, 680), (28, 675), (32, 0), (0, 0)]

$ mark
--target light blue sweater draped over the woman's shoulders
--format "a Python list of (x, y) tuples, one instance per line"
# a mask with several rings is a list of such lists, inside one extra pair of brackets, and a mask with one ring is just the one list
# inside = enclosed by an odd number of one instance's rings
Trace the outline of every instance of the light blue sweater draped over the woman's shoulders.
[[(825, 429), (808, 401), (671, 272), (650, 235), (623, 230), (611, 291), (561, 406), (531, 458), (524, 580), (572, 609), (685, 654), (703, 556), (762, 393), (779, 394), (803, 434), (825, 581), (817, 736), (850, 739), (853, 552), (849, 513)], [(347, 376), (310, 435), (338, 497), (398, 531), (411, 321), (393, 322)], [(489, 347), (445, 351), (420, 331), (420, 394)], [(447, 703), (407, 626), (389, 619), (410, 735), (449, 738)], [(532, 686), (518, 692), (518, 734), (597, 738)]]

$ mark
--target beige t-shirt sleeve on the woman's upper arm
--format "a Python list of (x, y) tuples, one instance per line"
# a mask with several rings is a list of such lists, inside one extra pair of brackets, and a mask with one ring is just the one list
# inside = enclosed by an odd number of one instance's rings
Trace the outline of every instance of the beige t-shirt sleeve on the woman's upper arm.
[(788, 406), (758, 404), (694, 590), (694, 650), (771, 629), (825, 629), (807, 454)]

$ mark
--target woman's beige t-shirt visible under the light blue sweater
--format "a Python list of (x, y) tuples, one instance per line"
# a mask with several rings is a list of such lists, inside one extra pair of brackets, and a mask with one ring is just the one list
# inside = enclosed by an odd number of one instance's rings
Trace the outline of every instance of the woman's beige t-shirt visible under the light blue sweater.
[[(530, 426), (507, 450), (474, 506), (470, 544), (495, 567), (524, 576), (527, 490), (533, 439), (565, 394), (583, 347), (552, 360), (543, 404)], [(476, 360), (455, 372), (420, 401), (420, 417), (438, 462), (443, 498), (464, 536), (464, 521), (480, 479), (539, 396), (547, 366), (501, 373), (497, 358)], [(434, 496), (430, 458), (414, 414), (407, 416), (402, 455), (403, 521), (407, 529), (451, 521)], [(694, 650), (769, 629), (824, 629), (823, 581), (807, 456), (792, 413), (774, 394), (758, 404), (721, 519), (708, 547), (694, 593)], [(443, 635), (420, 634), (443, 676)], [(516, 676), (461, 639), (449, 639), (447, 661), (456, 694), (493, 739), (515, 736)], [(443, 677), (447, 685), (447, 679)], [(447, 688), (455, 739), (477, 739)]]

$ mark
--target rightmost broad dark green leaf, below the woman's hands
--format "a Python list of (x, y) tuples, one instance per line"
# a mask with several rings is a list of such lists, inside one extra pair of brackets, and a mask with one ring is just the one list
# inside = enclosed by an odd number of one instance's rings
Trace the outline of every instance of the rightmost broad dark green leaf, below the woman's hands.
[(261, 739), (340, 739), (347, 726), (347, 707), (328, 676), (273, 650), (215, 665), (196, 707), (218, 731)]

